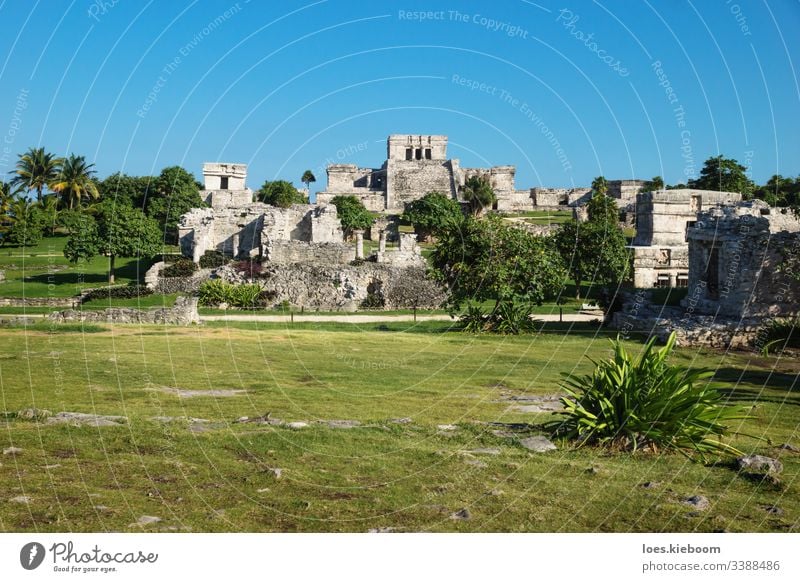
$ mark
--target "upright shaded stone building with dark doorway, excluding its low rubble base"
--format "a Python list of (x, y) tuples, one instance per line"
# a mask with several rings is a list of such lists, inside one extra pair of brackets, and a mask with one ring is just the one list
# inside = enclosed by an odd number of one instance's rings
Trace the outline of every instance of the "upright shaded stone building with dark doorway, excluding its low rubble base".
[(733, 318), (794, 315), (800, 282), (785, 270), (800, 253), (800, 220), (760, 200), (702, 212), (688, 229), (693, 312)]

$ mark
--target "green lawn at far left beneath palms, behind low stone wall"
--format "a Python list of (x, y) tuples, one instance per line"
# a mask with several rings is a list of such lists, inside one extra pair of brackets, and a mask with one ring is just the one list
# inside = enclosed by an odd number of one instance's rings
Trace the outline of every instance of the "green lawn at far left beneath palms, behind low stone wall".
[[(67, 237), (55, 236), (44, 238), (36, 247), (0, 248), (0, 270), (6, 273), (0, 297), (70, 297), (82, 289), (106, 285), (108, 258), (71, 264), (64, 258), (66, 242)], [(150, 264), (150, 260), (118, 258), (116, 284), (141, 281)]]

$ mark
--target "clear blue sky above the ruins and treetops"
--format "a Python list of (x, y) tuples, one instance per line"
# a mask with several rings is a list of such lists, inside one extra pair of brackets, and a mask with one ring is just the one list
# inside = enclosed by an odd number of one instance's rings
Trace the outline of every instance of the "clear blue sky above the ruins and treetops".
[(245, 162), (253, 188), (311, 168), (321, 190), (391, 133), (518, 188), (677, 183), (717, 153), (800, 173), (797, 0), (0, 0), (0, 22), (3, 174), (43, 145), (100, 176)]

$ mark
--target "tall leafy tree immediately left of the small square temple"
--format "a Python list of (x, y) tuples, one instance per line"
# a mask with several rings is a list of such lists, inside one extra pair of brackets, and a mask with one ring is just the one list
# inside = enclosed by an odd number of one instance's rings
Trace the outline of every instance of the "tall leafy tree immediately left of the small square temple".
[[(139, 188), (142, 186), (140, 183)], [(201, 189), (202, 184), (180, 166), (170, 166), (161, 170), (161, 174), (149, 190), (149, 195), (145, 187), (144, 195), (147, 196), (145, 212), (158, 223), (165, 241), (177, 242), (178, 222), (181, 216), (192, 208), (205, 206), (203, 199), (200, 198)]]

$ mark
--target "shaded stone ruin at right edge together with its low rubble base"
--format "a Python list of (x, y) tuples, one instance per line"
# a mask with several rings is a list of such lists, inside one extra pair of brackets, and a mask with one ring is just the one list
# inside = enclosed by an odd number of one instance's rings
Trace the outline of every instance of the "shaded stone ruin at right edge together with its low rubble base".
[(688, 294), (681, 307), (652, 305), (645, 293), (626, 298), (612, 327), (644, 331), (679, 345), (758, 347), (772, 317), (800, 311), (800, 283), (786, 271), (800, 254), (800, 220), (760, 200), (701, 211), (686, 230)]

